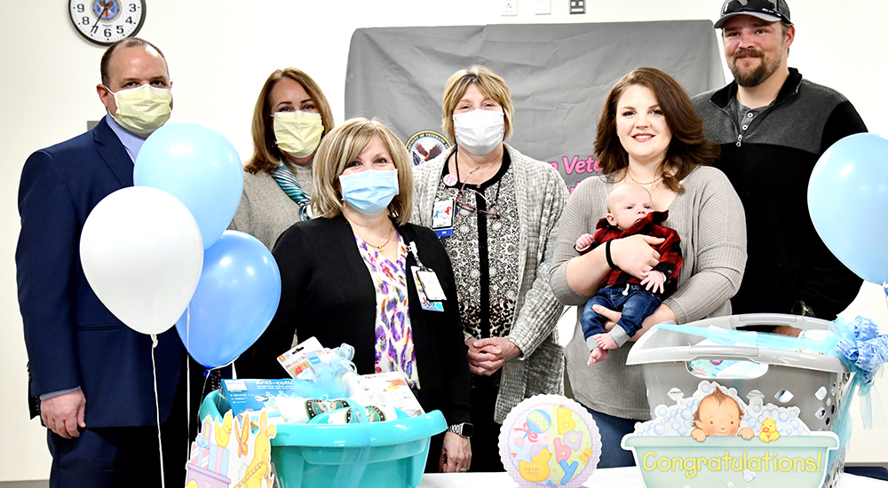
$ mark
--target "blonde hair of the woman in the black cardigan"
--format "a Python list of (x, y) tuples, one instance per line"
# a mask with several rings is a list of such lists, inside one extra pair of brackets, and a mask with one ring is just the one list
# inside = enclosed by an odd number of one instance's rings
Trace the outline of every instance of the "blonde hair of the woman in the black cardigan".
[(350, 119), (330, 130), (314, 153), (312, 211), (315, 216), (333, 218), (342, 214), (339, 176), (373, 138), (382, 139), (398, 170), (399, 193), (389, 203), (388, 215), (395, 224), (409, 222), (413, 209), (413, 164), (407, 149), (383, 122), (364, 118)]

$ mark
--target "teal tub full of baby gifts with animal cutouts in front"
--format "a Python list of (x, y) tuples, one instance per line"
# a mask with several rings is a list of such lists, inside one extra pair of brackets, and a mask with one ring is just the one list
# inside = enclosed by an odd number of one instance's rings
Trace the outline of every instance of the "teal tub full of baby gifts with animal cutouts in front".
[(279, 358), (293, 378), (223, 380), (201, 405), (186, 488), (417, 486), (444, 415), (403, 374), (358, 375), (352, 358), (311, 338)]

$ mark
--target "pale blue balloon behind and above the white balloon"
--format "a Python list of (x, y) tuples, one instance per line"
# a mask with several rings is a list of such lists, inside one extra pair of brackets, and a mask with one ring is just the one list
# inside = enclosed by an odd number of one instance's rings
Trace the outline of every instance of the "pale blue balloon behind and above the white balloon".
[(132, 180), (184, 203), (201, 228), (206, 249), (237, 211), (243, 167), (234, 146), (218, 131), (194, 122), (168, 123), (142, 145)]

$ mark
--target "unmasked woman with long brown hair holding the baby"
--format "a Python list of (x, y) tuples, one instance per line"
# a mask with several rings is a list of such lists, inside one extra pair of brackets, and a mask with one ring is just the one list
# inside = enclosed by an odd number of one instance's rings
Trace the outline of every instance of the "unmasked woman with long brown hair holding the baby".
[[(669, 210), (663, 222), (681, 236), (684, 265), (678, 290), (648, 317), (634, 338), (665, 320), (679, 324), (731, 313), (730, 298), (746, 265), (746, 220), (733, 186), (708, 165), (718, 146), (703, 138), (702, 119), (678, 82), (660, 70), (638, 68), (616, 83), (599, 120), (595, 153), (602, 175), (577, 185), (559, 224), (550, 283), (561, 303), (582, 305), (595, 295), (611, 268), (638, 278), (658, 263), (653, 237), (612, 240), (579, 256), (577, 237), (607, 213), (607, 194), (626, 182), (645, 186), (654, 209)], [(599, 311), (599, 309), (596, 309)], [(626, 366), (634, 342), (610, 351), (607, 361), (587, 366), (589, 349), (577, 309), (574, 337), (565, 350), (574, 396), (592, 413), (601, 432), (599, 468), (631, 466), (620, 447), (636, 421), (650, 419), (641, 366)], [(613, 327), (619, 312), (599, 311)]]

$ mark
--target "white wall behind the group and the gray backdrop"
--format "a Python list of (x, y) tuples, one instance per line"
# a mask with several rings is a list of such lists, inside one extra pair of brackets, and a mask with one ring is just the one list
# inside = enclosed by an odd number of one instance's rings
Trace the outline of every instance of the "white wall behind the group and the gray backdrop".
[[(174, 80), (174, 120), (215, 126), (249, 156), (250, 114), (266, 76), (294, 66), (311, 74), (342, 120), (345, 61), (355, 28), (710, 19), (721, 0), (587, 0), (588, 13), (568, 15), (555, 0), (551, 15), (534, 14), (536, 0), (519, 0), (517, 17), (499, 15), (500, 0), (149, 0), (139, 35), (166, 53)], [(44, 429), (28, 421), (27, 360), (15, 295), (13, 254), (19, 233), (16, 193), (28, 154), (71, 138), (98, 120), (95, 94), (102, 49), (83, 41), (67, 20), (67, 2), (4, 4), (0, 29), (0, 481), (41, 479), (49, 473)], [(842, 91), (870, 130), (888, 135), (888, 67), (877, 53), (888, 4), (794, 0), (797, 24), (790, 65), (809, 79)], [(715, 35), (715, 32), (713, 32)], [(873, 53), (876, 53), (874, 55)], [(730, 79), (730, 75), (727, 76)], [(591, 141), (590, 141), (591, 142)], [(47, 236), (52, 239), (52, 236)], [(854, 306), (857, 306), (856, 304)], [(888, 323), (881, 289), (861, 307)], [(888, 395), (883, 395), (888, 399)], [(855, 434), (852, 459), (888, 461), (888, 432)], [(877, 448), (874, 448), (876, 447)], [(856, 447), (856, 449), (855, 449)], [(879, 457), (881, 456), (881, 457)]]

